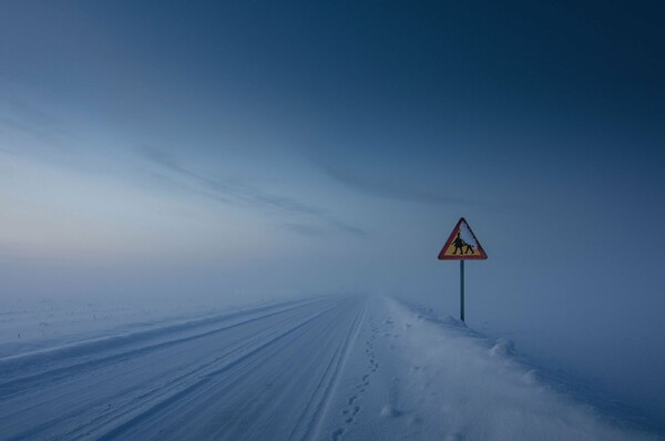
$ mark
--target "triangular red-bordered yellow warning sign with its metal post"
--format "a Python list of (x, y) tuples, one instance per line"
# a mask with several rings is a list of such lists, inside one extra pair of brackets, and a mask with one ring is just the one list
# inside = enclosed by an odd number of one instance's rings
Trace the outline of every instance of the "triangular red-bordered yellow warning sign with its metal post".
[(484, 260), (487, 253), (461, 217), (439, 253), (439, 260), (460, 260), (460, 319), (464, 321), (464, 260)]

